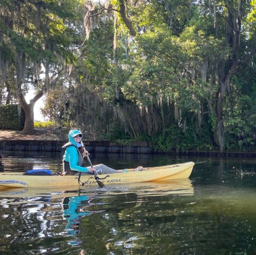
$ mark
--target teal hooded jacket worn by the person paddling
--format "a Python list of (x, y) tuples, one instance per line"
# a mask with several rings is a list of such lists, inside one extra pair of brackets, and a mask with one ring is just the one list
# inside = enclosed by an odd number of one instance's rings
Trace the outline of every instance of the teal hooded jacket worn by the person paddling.
[(81, 157), (83, 156), (78, 152), (78, 149), (77, 149), (78, 145), (76, 144), (73, 138), (74, 135), (78, 135), (78, 134), (81, 134), (79, 130), (72, 129), (69, 131), (69, 142), (74, 144), (75, 146), (69, 146), (66, 148), (66, 151), (63, 156), (63, 160), (69, 162), (69, 167), (71, 170), (78, 171), (78, 172), (88, 172), (87, 167), (81, 166), (83, 162)]

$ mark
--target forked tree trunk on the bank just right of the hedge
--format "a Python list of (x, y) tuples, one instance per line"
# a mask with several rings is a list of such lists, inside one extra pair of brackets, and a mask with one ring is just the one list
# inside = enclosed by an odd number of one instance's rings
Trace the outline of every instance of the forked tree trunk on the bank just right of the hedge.
[(25, 97), (22, 94), (22, 92), (19, 92), (20, 104), (25, 112), (25, 125), (22, 130), (22, 133), (28, 134), (28, 135), (32, 135), (35, 133), (35, 130), (34, 130), (34, 104), (43, 95), (44, 95), (44, 91), (41, 90), (34, 96), (34, 98), (32, 98), (30, 100), (30, 103), (28, 104), (26, 102)]

